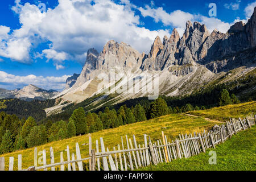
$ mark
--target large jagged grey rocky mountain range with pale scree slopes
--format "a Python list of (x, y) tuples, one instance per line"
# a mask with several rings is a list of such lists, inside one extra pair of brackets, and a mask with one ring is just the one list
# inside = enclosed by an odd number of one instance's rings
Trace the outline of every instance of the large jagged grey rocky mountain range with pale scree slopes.
[[(88, 50), (80, 76), (70, 78), (75, 84), (55, 96), (61, 100), (60, 104), (47, 112), (51, 114), (53, 110), (61, 109), (65, 106), (61, 102), (84, 101), (102, 93), (108, 86), (108, 94), (112, 94), (131, 80), (150, 84), (156, 75), (159, 77), (159, 94), (167, 96), (190, 94), (234, 70), (230, 78), (223, 81), (229, 82), (255, 68), (255, 46), (256, 7), (246, 24), (237, 22), (225, 34), (218, 30), (209, 32), (204, 24), (188, 21), (181, 37), (175, 28), (170, 38), (164, 36), (163, 42), (157, 36), (148, 54), (139, 53), (126, 43), (110, 40), (100, 53), (93, 48)], [(99, 77), (102, 73), (109, 77), (107, 81)], [(111, 78), (113, 73), (119, 76)], [(106, 102), (117, 103), (148, 94), (123, 92)], [(105, 95), (97, 98), (94, 104), (104, 100)]]

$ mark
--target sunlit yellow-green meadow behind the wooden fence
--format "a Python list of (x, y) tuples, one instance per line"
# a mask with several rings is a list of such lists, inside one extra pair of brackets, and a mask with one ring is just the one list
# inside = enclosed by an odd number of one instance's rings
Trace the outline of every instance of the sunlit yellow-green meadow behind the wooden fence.
[[(240, 107), (244, 108), (247, 106), (250, 106), (249, 109), (246, 109), (246, 112), (243, 109), (238, 109)], [(152, 141), (155, 141), (156, 139), (162, 138), (161, 131), (164, 131), (164, 134), (167, 135), (168, 140), (169, 139), (175, 139), (177, 135), (179, 134), (189, 134), (194, 131), (199, 132), (203, 131), (204, 129), (207, 130), (208, 128), (220, 124), (220, 121), (211, 121), (209, 119), (205, 119), (206, 117), (209, 117), (209, 115), (212, 115), (212, 119), (218, 119), (219, 113), (223, 111), (228, 111), (229, 114), (233, 113), (233, 109), (236, 110), (234, 113), (234, 117), (237, 115), (246, 116), (246, 114), (249, 114), (251, 111), (255, 111), (256, 104), (255, 102), (249, 102), (245, 104), (240, 105), (232, 105), (232, 106), (225, 106), (225, 107), (219, 107), (213, 108), (210, 110), (204, 110), (201, 114), (198, 114), (199, 117), (193, 117), (189, 115), (184, 114), (171, 114), (171, 115), (165, 115), (163, 117), (150, 119), (148, 121), (139, 122), (139, 123), (133, 123), (131, 125), (121, 126), (115, 129), (109, 129), (109, 130), (102, 130), (98, 131), (97, 133), (92, 134), (92, 145), (93, 148), (96, 148), (96, 140), (100, 140), (100, 137), (103, 137), (105, 147), (109, 147), (109, 150), (113, 150), (113, 147), (117, 147), (117, 144), (121, 144), (121, 137), (125, 137), (127, 135), (129, 138), (132, 137), (134, 134), (137, 143), (142, 144), (144, 142), (143, 140), (143, 134), (147, 134), (151, 137)], [(216, 112), (216, 118), (214, 117), (213, 111)], [(197, 113), (192, 113), (193, 115), (196, 115)], [(209, 114), (209, 115), (208, 115)], [(222, 119), (221, 119), (222, 120)], [(64, 160), (67, 160), (67, 152), (64, 151), (67, 148), (67, 145), (69, 145), (69, 148), (71, 150), (71, 154), (76, 154), (75, 151), (75, 144), (76, 142), (79, 142), (80, 144), (80, 150), (82, 158), (86, 158), (88, 156), (88, 135), (82, 135), (80, 137), (73, 137), (69, 139), (64, 139), (57, 142), (47, 143), (43, 146), (38, 146), (38, 151), (46, 150), (47, 155), (47, 164), (50, 163), (49, 158), (49, 147), (53, 147), (54, 155), (55, 155), (55, 162), (60, 162), (60, 152), (63, 151), (64, 153)], [(126, 144), (126, 143), (125, 143)], [(10, 154), (1, 155), (6, 158), (6, 169), (9, 167), (9, 157), (14, 156), (14, 170), (18, 168), (18, 154), (22, 154), (22, 167), (28, 168), (30, 166), (34, 166), (34, 148), (28, 148), (27, 150), (22, 151), (15, 151)]]

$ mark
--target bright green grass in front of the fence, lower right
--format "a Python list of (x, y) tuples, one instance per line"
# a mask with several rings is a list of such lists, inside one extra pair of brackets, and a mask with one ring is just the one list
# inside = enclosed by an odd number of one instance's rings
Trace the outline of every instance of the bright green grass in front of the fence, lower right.
[[(206, 153), (192, 156), (189, 159), (173, 160), (170, 163), (161, 163), (158, 166), (148, 166), (140, 170), (154, 171), (233, 171), (233, 170), (256, 170), (256, 126), (252, 129), (242, 131), (216, 146), (209, 148)], [(217, 164), (210, 165), (209, 151), (216, 151)]]

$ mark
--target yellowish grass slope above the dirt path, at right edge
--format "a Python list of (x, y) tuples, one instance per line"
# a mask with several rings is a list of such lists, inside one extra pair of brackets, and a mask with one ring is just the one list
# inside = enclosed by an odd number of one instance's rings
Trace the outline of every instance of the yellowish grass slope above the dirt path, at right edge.
[(228, 105), (223, 107), (213, 107), (208, 110), (199, 110), (199, 111), (189, 111), (188, 114), (197, 115), (210, 119), (217, 119), (219, 121), (225, 122), (231, 118), (243, 118), (246, 115), (253, 112), (256, 114), (256, 102), (246, 102), (236, 105)]

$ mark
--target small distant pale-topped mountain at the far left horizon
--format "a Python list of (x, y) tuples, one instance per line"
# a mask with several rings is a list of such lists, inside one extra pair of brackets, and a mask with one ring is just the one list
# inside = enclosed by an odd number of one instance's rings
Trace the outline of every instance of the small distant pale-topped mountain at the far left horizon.
[(22, 89), (0, 89), (0, 98), (19, 98), (24, 101), (47, 100), (56, 96), (56, 90), (44, 90), (35, 85), (24, 86)]

